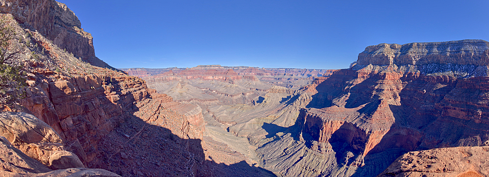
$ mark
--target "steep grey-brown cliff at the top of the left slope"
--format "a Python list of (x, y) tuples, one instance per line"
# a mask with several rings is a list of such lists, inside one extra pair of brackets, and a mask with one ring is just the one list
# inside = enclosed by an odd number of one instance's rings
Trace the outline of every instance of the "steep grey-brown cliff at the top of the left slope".
[(80, 20), (64, 3), (55, 0), (1, 0), (0, 11), (12, 14), (21, 23), (32, 26), (45, 38), (76, 58), (99, 67), (109, 67), (95, 57), (93, 39), (83, 31)]

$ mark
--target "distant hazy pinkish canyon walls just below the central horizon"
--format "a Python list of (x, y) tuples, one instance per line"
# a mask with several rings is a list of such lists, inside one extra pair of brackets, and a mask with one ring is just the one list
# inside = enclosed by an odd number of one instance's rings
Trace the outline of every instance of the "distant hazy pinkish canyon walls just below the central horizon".
[(297, 90), (330, 70), (199, 65), (193, 68), (121, 69), (177, 101), (209, 105), (248, 104), (274, 85)]

